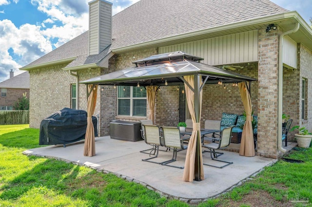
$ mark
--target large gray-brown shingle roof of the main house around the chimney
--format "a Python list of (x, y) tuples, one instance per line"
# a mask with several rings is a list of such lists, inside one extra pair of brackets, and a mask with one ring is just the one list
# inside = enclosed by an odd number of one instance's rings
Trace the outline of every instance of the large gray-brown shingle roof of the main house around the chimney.
[(120, 47), (285, 12), (269, 0), (140, 0), (113, 16), (109, 51), (88, 56), (87, 31), (25, 67), (71, 57), (66, 68), (91, 64)]

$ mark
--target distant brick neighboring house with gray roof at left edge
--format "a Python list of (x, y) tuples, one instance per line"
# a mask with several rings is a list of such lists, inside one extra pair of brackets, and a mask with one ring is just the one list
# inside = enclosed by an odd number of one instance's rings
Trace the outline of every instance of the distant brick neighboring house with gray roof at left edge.
[(29, 73), (23, 72), (14, 76), (11, 69), (10, 78), (0, 83), (0, 110), (14, 110), (14, 105), (23, 98), (23, 93), (29, 97)]

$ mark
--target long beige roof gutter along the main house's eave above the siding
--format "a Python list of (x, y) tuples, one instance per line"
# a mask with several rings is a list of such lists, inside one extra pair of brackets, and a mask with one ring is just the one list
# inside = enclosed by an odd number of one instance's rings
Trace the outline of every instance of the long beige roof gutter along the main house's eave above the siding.
[(250, 26), (250, 25), (254, 25), (254, 24), (266, 24), (266, 22), (272, 22), (272, 21), (282, 20), (282, 19), (291, 18), (291, 17), (294, 17), (295, 19), (297, 19), (301, 23), (301, 25), (307, 31), (309, 31), (310, 35), (312, 35), (312, 29), (303, 20), (303, 18), (296, 11), (290, 11), (290, 12), (286, 12), (283, 14), (277, 14), (277, 15), (272, 15), (272, 16), (268, 16), (268, 17), (239, 21), (239, 22), (236, 22), (234, 24), (224, 24), (222, 26), (211, 27), (209, 29), (200, 30), (200, 31), (196, 31), (196, 32), (184, 33), (184, 34), (175, 35), (175, 36), (168, 36), (165, 38), (156, 39), (156, 40), (152, 40), (149, 42), (142, 42), (142, 43), (138, 43), (135, 45), (116, 48), (116, 49), (113, 49), (112, 52), (125, 52), (125, 51), (129, 51), (129, 50), (133, 50), (133, 49), (137, 49), (137, 48), (141, 48), (141, 47), (146, 47), (146, 46), (150, 46), (150, 45), (154, 45), (154, 44), (159, 44), (159, 43), (163, 43), (163, 42), (167, 42), (167, 41), (173, 41), (176, 39), (182, 39), (182, 38), (187, 38), (187, 37), (196, 36), (196, 35), (214, 33), (214, 32), (219, 32), (219, 31), (223, 31), (223, 30), (234, 29), (237, 27)]

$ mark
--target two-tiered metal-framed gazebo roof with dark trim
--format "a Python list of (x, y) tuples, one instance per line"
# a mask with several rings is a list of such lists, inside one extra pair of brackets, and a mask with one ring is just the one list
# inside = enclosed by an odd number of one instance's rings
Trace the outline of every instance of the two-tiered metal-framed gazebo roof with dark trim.
[(256, 79), (234, 73), (225, 69), (195, 62), (202, 58), (184, 53), (171, 52), (153, 55), (135, 61), (136, 66), (117, 70), (95, 78), (81, 81), (83, 84), (116, 85), (116, 86), (168, 86), (183, 83), (181, 77), (186, 75), (206, 76), (206, 84), (235, 83), (242, 81), (256, 81)]

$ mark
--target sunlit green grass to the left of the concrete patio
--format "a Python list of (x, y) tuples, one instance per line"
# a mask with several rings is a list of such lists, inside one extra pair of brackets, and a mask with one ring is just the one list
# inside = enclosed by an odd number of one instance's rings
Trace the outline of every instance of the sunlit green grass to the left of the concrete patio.
[(22, 155), (40, 147), (39, 130), (0, 125), (0, 206), (187, 206), (113, 174), (55, 159)]

